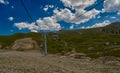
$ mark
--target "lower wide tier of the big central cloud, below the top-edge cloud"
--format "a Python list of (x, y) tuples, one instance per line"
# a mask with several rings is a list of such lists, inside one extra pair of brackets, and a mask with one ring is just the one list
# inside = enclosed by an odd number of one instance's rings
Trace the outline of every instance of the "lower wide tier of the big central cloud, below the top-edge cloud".
[(69, 9), (65, 8), (61, 9), (60, 11), (54, 10), (54, 17), (57, 21), (65, 21), (67, 23), (80, 24), (89, 21), (90, 19), (94, 18), (97, 14), (99, 14), (99, 11), (96, 9), (93, 9), (84, 14), (85, 12), (85, 10), (81, 10), (81, 12), (72, 13)]

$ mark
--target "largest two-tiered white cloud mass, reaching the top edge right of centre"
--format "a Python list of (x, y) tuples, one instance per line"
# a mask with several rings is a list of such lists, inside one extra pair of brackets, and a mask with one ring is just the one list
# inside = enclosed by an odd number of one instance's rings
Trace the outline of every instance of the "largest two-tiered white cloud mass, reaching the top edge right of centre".
[[(100, 11), (92, 9), (86, 13), (85, 8), (94, 4), (96, 0), (61, 0), (64, 6), (75, 10), (72, 13), (70, 9), (55, 9), (54, 17), (57, 21), (65, 21), (67, 23), (81, 24), (94, 18)], [(85, 13), (85, 14), (84, 14)]]

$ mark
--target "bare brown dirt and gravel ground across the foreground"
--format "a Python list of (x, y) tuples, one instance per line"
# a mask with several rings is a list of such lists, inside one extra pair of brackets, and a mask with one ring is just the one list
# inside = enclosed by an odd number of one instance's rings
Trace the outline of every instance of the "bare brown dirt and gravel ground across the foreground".
[(0, 52), (0, 73), (120, 73), (120, 65), (40, 52)]

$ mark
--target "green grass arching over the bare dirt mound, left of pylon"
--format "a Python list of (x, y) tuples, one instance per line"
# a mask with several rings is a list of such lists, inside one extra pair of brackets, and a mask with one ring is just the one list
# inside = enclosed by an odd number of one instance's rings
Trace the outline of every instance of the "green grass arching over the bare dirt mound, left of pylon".
[(28, 34), (16, 33), (11, 36), (0, 36), (0, 44), (3, 47), (11, 46), (15, 40), (21, 39), (21, 38), (28, 38), (28, 37), (31, 37), (32, 39), (36, 40), (40, 44), (39, 41), (41, 41), (41, 36), (37, 33), (28, 33)]

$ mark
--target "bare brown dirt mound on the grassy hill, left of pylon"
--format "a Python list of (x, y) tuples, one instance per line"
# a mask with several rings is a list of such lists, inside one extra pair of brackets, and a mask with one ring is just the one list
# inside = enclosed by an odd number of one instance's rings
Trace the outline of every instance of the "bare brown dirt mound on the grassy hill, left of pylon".
[(36, 41), (32, 40), (32, 38), (18, 39), (12, 46), (13, 50), (30, 50), (37, 48), (39, 48), (38, 44)]

